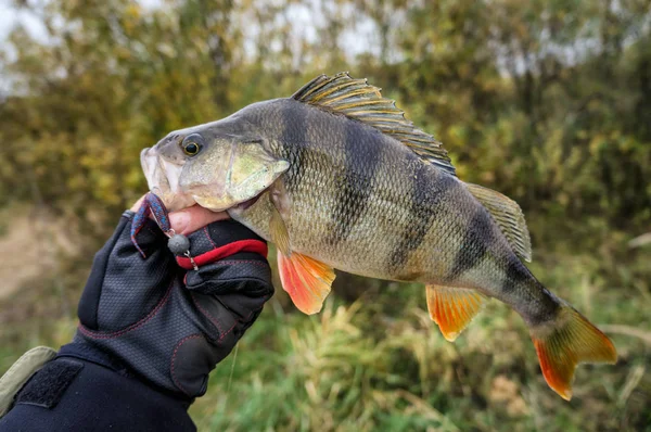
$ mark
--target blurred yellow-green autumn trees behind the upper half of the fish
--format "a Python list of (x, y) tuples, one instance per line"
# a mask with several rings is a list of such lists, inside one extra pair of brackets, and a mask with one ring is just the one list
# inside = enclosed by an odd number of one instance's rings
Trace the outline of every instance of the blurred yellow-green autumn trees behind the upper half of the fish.
[[(145, 188), (140, 150), (168, 131), (349, 69), (442, 140), (461, 178), (525, 212), (651, 221), (648, 1), (85, 0), (34, 10), (48, 40), (18, 27), (3, 62), (3, 196), (115, 214)], [(293, 23), (302, 12), (312, 14), (311, 37)], [(369, 41), (350, 37), (360, 22), (376, 28)]]

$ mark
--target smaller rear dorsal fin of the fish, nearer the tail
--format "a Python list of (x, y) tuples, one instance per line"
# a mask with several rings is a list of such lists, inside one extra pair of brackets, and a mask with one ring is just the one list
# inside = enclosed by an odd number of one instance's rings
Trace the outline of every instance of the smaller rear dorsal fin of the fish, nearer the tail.
[(518, 203), (494, 190), (465, 183), (470, 193), (490, 213), (505, 237), (511, 243), (513, 252), (522, 259), (532, 261), (532, 240), (526, 229), (524, 214)]

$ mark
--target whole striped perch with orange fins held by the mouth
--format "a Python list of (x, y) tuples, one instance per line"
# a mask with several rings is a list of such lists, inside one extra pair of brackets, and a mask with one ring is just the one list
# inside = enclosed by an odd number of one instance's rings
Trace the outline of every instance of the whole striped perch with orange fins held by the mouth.
[(578, 364), (616, 363), (612, 341), (523, 263), (532, 245), (518, 203), (459, 179), (443, 144), (366, 79), (318, 76), (290, 98), (173, 131), (141, 163), (170, 209), (227, 211), (275, 243), (282, 288), (305, 314), (321, 309), (339, 269), (423, 283), (448, 341), (488, 298), (506, 303), (567, 401)]

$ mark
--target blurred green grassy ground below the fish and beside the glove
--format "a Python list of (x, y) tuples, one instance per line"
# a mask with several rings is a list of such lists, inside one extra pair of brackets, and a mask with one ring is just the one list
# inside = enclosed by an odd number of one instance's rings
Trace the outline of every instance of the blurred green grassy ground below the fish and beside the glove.
[[(524, 323), (505, 305), (490, 302), (451, 344), (422, 287), (342, 277), (335, 291), (358, 294), (331, 296), (312, 317), (279, 290), (191, 415), (201, 431), (651, 431), (649, 249), (615, 240), (583, 252), (562, 242), (536, 251), (531, 266), (613, 330), (618, 364), (579, 367), (570, 403), (547, 386)], [(29, 347), (72, 338), (88, 268), (67, 264), (65, 278), (0, 301), (0, 372)]]

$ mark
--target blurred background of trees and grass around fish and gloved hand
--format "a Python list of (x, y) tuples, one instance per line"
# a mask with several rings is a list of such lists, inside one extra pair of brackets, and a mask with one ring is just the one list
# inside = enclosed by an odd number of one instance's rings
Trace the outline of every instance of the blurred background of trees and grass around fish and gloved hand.
[(450, 344), (422, 287), (340, 274), (314, 317), (277, 285), (200, 430), (651, 431), (649, 0), (0, 0), (0, 373), (72, 338), (142, 148), (340, 71), (521, 204), (529, 267), (620, 363), (566, 403), (505, 305)]

